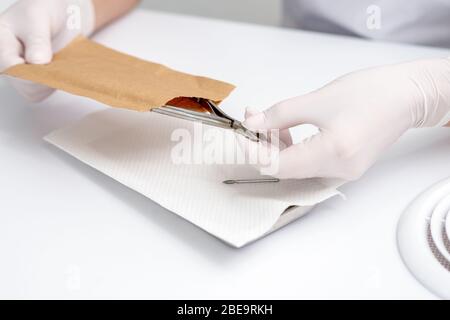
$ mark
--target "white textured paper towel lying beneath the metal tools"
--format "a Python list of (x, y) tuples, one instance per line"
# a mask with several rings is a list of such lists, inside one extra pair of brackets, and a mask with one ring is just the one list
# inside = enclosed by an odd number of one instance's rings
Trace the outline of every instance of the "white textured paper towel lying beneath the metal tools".
[[(312, 206), (338, 193), (312, 179), (225, 185), (226, 179), (259, 175), (247, 165), (174, 164), (172, 132), (193, 133), (195, 126), (152, 112), (109, 109), (45, 139), (235, 247), (265, 235), (289, 206)], [(221, 130), (235, 140), (230, 130), (202, 128), (205, 135)]]

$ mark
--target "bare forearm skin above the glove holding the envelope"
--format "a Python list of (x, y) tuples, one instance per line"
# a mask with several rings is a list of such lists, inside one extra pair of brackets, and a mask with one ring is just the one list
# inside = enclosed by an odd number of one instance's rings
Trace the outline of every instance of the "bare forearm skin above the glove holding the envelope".
[(139, 3), (139, 0), (93, 0), (95, 30), (123, 16)]

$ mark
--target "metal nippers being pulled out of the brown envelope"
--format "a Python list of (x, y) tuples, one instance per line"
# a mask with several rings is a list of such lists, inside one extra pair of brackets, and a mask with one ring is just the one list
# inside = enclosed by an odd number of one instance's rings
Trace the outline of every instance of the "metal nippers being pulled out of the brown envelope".
[(243, 135), (247, 139), (255, 142), (259, 142), (261, 139), (265, 139), (264, 135), (245, 128), (242, 122), (227, 115), (214, 102), (206, 99), (198, 99), (198, 101), (204, 102), (210, 110), (208, 110), (208, 112), (200, 112), (166, 105), (163, 107), (152, 109), (152, 111), (166, 116), (201, 122), (209, 126), (232, 129), (236, 133)]

